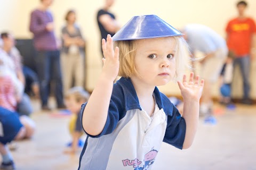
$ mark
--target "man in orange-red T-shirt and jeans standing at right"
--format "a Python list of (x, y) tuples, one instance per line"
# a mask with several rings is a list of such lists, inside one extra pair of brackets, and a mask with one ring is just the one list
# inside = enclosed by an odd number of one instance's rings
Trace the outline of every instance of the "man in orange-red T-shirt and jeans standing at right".
[(243, 100), (242, 103), (251, 105), (250, 99), (250, 62), (256, 53), (256, 26), (252, 18), (245, 15), (247, 3), (237, 3), (238, 16), (231, 19), (226, 27), (227, 45), (235, 54), (234, 67), (239, 65), (243, 78)]

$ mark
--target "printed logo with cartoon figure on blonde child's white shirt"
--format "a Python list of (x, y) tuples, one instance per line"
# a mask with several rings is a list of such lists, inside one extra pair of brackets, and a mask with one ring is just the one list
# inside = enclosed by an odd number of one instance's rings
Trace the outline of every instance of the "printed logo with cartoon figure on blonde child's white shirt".
[(158, 151), (155, 149), (150, 150), (144, 157), (143, 161), (145, 162), (145, 165), (143, 165), (141, 167), (139, 167), (139, 165), (142, 162), (137, 158), (135, 158), (133, 160), (130, 160), (130, 159), (122, 160), (123, 165), (124, 166), (133, 166), (133, 168), (135, 168), (134, 170), (147, 170), (147, 168), (149, 168), (150, 165), (154, 164), (157, 152)]

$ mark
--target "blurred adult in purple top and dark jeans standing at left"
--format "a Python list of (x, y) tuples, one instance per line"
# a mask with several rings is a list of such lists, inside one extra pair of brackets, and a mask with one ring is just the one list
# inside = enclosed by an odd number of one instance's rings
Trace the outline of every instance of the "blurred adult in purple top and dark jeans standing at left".
[(55, 98), (58, 108), (63, 105), (60, 50), (54, 34), (52, 13), (48, 10), (53, 0), (41, 0), (41, 4), (31, 13), (30, 31), (34, 33), (34, 46), (37, 51), (36, 67), (40, 84), (42, 109), (47, 105), (50, 94), (50, 81), (55, 81)]

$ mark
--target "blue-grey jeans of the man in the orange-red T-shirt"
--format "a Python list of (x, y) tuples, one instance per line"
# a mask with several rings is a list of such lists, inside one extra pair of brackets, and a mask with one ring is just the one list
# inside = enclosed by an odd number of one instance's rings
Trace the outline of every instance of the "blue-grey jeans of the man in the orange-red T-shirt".
[(250, 56), (246, 55), (243, 57), (235, 58), (234, 68), (237, 64), (240, 67), (240, 71), (241, 71), (242, 78), (243, 78), (244, 99), (249, 99), (249, 95), (250, 95), (250, 83), (249, 83)]

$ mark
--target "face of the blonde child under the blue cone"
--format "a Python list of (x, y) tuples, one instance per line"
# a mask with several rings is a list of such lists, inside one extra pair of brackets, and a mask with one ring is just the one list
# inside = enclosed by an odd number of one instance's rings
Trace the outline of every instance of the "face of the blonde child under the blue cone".
[(175, 50), (177, 43), (172, 37), (137, 40), (135, 68), (140, 81), (151, 86), (168, 83), (175, 75)]

